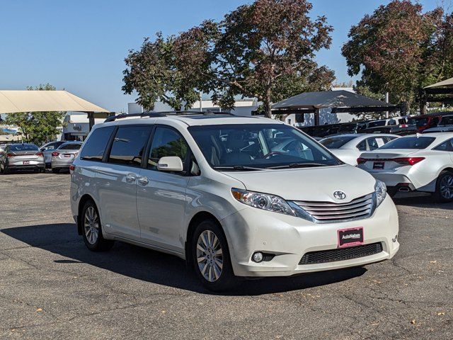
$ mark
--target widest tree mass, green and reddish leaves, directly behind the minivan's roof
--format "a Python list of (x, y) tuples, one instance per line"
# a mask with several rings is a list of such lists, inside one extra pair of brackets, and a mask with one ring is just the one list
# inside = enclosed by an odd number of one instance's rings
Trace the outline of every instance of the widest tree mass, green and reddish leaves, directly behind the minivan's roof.
[[(254, 97), (270, 117), (271, 103), (330, 89), (334, 79), (333, 71), (314, 60), (316, 51), (330, 47), (332, 28), (324, 16), (312, 20), (311, 7), (306, 0), (256, 0), (219, 23), (145, 40), (126, 58), (123, 91), (137, 91), (137, 102), (148, 107), (157, 98), (170, 103), (166, 96), (190, 107), (197, 91), (212, 94), (222, 108), (233, 108), (235, 96)], [(171, 56), (159, 52), (162, 45)]]

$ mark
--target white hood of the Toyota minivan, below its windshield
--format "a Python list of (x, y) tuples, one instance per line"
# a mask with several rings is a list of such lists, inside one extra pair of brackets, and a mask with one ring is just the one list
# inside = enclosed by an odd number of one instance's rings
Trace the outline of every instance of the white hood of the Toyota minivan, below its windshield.
[[(376, 180), (366, 171), (347, 164), (303, 169), (224, 172), (249, 191), (270, 193), (285, 200), (348, 203), (374, 192)], [(345, 200), (333, 198), (343, 191)]]

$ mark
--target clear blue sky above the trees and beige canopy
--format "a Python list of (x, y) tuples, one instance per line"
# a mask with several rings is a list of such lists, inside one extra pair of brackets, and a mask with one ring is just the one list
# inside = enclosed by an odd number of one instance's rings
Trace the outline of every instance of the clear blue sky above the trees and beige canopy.
[[(216, 0), (1, 0), (0, 89), (25, 89), (40, 83), (86, 98), (110, 111), (127, 110), (134, 96), (122, 94), (127, 51), (161, 30), (176, 34), (250, 1)], [(318, 61), (348, 81), (340, 49), (350, 26), (389, 1), (312, 0), (313, 16), (333, 26), (330, 50)], [(420, 1), (430, 10), (438, 0)]]

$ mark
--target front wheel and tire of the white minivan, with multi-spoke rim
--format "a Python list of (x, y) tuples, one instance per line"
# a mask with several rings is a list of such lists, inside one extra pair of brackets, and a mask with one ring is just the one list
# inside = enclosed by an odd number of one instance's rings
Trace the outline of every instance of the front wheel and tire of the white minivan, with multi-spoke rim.
[(216, 221), (200, 222), (195, 228), (190, 247), (195, 273), (205, 288), (213, 292), (234, 288), (236, 278), (231, 267), (228, 242)]

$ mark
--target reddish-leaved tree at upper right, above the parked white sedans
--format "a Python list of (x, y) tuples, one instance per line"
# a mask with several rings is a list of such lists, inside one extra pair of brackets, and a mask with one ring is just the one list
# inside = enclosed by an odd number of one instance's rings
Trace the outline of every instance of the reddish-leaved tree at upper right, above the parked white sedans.
[(435, 73), (432, 47), (442, 10), (423, 13), (410, 0), (394, 0), (366, 15), (349, 32), (342, 54), (352, 77), (362, 74), (362, 86), (391, 101), (413, 104), (418, 89)]

